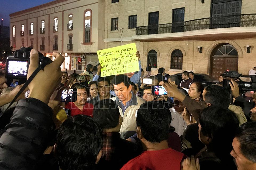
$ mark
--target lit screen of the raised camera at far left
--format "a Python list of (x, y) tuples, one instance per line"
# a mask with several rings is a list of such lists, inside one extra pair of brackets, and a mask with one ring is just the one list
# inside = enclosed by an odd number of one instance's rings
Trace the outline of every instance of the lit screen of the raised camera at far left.
[(8, 62), (7, 72), (13, 76), (27, 76), (27, 61), (12, 61)]

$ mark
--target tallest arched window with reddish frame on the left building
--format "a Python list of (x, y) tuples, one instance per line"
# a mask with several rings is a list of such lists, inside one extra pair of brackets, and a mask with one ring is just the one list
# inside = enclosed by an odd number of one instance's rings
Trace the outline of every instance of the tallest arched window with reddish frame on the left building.
[(84, 11), (84, 26), (83, 26), (83, 44), (90, 45), (91, 43), (91, 10)]

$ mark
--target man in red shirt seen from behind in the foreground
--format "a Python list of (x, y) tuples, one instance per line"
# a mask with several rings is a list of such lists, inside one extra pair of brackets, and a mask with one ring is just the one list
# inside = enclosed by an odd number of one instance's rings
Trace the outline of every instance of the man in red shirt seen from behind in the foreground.
[(181, 169), (181, 161), (186, 156), (169, 148), (167, 138), (170, 116), (165, 109), (154, 109), (157, 105), (159, 103), (146, 102), (138, 109), (137, 134), (145, 151), (127, 162), (121, 170)]

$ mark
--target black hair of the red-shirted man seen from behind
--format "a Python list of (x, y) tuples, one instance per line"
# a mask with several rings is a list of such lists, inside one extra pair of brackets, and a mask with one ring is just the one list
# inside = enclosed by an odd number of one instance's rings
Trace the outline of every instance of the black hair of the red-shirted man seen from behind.
[[(149, 142), (161, 142), (168, 138), (170, 116), (161, 103), (145, 102), (138, 109), (137, 126)], [(168, 110), (169, 111), (169, 110)]]

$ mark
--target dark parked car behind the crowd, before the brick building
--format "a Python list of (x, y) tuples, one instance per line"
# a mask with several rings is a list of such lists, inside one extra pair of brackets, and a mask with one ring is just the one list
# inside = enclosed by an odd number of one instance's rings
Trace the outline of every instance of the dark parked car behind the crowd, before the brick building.
[[(177, 74), (175, 74), (175, 75), (178, 76), (178, 78), (179, 78), (179, 84), (180, 84), (180, 83), (181, 83), (181, 80), (182, 80), (182, 78), (181, 78), (182, 73), (177, 73)], [(211, 85), (211, 84), (215, 84), (216, 82), (218, 82), (218, 81), (216, 81), (216, 80), (213, 80), (213, 79), (212, 79), (209, 75), (207, 75), (207, 74), (197, 74), (197, 73), (194, 74), (194, 80), (197, 80), (197, 81), (201, 82), (201, 83), (203, 84), (203, 87), (206, 87), (206, 86), (209, 86), (209, 85)]]

